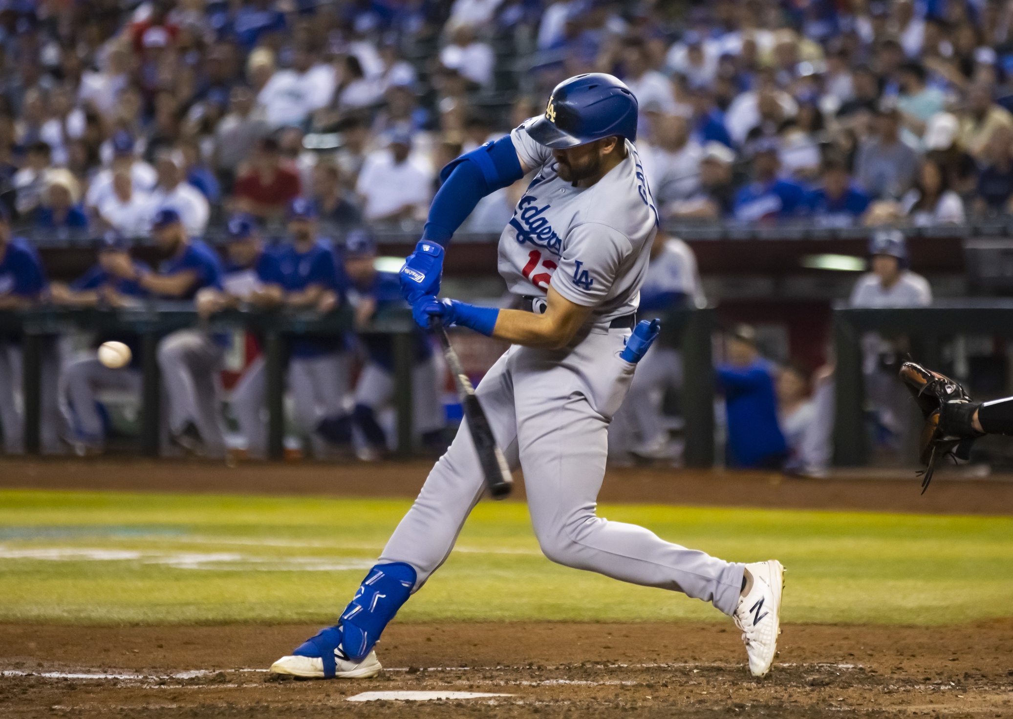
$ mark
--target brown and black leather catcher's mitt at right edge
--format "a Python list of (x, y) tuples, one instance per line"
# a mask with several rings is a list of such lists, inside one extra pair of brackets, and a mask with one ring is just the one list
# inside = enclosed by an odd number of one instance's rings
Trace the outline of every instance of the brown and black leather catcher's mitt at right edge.
[(902, 364), (900, 376), (925, 417), (918, 445), (919, 460), (925, 464), (920, 473), (925, 494), (941, 459), (947, 455), (960, 459), (969, 456), (970, 445), (981, 436), (970, 424), (980, 406), (971, 402), (959, 382), (916, 362)]

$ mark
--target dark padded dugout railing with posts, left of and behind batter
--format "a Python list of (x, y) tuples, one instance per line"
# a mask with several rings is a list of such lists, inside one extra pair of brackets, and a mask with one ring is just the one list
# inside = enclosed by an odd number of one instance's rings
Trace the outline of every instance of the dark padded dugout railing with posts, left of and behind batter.
[[(189, 302), (146, 302), (130, 308), (69, 308), (41, 306), (26, 310), (0, 311), (0, 336), (20, 337), (22, 348), (21, 390), (23, 399), (24, 447), (29, 454), (41, 448), (42, 359), (53, 338), (70, 331), (122, 332), (140, 339), (142, 373), (140, 408), (140, 450), (158, 456), (161, 440), (162, 386), (158, 368), (159, 341), (186, 328), (208, 332), (243, 329), (262, 339), (266, 372), (267, 455), (281, 459), (285, 447), (285, 367), (290, 338), (299, 335), (328, 335), (354, 330), (350, 308), (333, 312), (246, 311), (229, 309), (210, 317), (198, 315)], [(663, 320), (658, 342), (682, 349), (684, 386), (683, 413), (686, 419), (685, 460), (688, 466), (706, 468), (714, 463), (714, 379), (711, 333), (715, 328), (713, 309), (679, 309)], [(381, 312), (360, 334), (392, 336), (394, 354), (394, 409), (397, 427), (396, 455), (408, 457), (412, 446), (412, 362), (414, 347), (410, 312)]]

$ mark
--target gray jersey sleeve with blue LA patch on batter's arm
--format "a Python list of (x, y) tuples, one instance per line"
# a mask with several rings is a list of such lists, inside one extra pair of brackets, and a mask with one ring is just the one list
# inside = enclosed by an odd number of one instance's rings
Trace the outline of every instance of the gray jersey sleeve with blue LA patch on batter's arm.
[(601, 304), (632, 251), (626, 235), (613, 227), (596, 222), (577, 225), (566, 235), (552, 287), (574, 304)]

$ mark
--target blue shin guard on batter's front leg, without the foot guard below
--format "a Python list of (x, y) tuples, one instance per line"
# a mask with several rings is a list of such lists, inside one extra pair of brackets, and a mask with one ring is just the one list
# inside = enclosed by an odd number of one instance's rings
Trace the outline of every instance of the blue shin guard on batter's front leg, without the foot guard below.
[(408, 600), (417, 575), (404, 562), (378, 564), (359, 585), (355, 598), (341, 613), (341, 648), (353, 661), (373, 650), (401, 604)]

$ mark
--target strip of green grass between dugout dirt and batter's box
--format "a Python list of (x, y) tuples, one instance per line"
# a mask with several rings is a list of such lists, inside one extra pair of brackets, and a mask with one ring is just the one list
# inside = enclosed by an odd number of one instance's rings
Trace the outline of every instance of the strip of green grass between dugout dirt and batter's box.
[[(329, 623), (408, 505), (0, 492), (0, 621)], [(724, 559), (780, 559), (790, 570), (788, 622), (1013, 616), (1010, 517), (651, 505), (605, 505), (599, 513)], [(527, 508), (509, 502), (476, 507), (458, 551), (399, 618), (726, 621), (681, 594), (548, 562)]]

